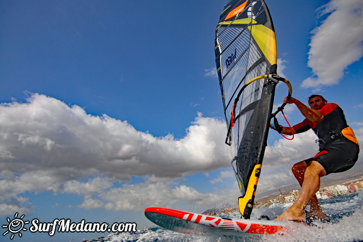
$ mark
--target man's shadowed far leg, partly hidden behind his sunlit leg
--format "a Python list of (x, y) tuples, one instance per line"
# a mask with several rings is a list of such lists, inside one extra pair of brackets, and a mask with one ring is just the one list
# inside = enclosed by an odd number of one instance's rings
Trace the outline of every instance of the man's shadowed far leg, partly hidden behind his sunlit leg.
[[(304, 181), (304, 173), (305, 173), (306, 167), (307, 167), (306, 162), (303, 160), (303, 161), (300, 161), (299, 163), (296, 163), (292, 168), (292, 172), (293, 172), (296, 180), (298, 180), (300, 186), (302, 186), (302, 183)], [(311, 197), (311, 200), (310, 200), (310, 215), (313, 217), (320, 218), (320, 219), (326, 218), (325, 213), (321, 209), (319, 202), (318, 202), (318, 198), (315, 194), (313, 197)]]

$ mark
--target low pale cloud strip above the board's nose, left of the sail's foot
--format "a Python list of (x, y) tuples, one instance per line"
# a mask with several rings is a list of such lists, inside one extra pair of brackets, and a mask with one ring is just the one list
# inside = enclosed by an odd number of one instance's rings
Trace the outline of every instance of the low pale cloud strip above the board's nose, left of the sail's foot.
[(113, 188), (102, 192), (99, 197), (105, 201), (107, 210), (141, 211), (150, 206), (173, 207), (180, 201), (195, 204), (195, 207), (212, 207), (236, 200), (238, 190), (201, 193), (186, 185), (171, 184), (170, 180), (157, 180), (154, 177), (144, 183), (126, 184), (122, 188)]

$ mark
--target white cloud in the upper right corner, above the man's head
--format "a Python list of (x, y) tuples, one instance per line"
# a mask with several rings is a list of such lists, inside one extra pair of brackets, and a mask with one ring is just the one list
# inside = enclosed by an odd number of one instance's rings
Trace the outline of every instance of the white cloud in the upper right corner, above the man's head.
[(329, 16), (312, 32), (308, 66), (315, 76), (302, 87), (337, 84), (344, 69), (363, 55), (363, 1), (331, 0), (319, 10)]

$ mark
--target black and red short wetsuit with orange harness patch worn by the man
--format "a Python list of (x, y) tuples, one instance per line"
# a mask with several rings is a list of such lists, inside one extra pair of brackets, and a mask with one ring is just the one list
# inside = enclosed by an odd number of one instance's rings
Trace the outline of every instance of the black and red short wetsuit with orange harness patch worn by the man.
[(305, 162), (317, 161), (325, 168), (326, 174), (347, 171), (358, 160), (359, 144), (354, 132), (337, 104), (327, 103), (318, 111), (324, 116), (322, 122), (304, 119), (293, 126), (297, 134), (311, 128), (319, 138), (320, 152)]

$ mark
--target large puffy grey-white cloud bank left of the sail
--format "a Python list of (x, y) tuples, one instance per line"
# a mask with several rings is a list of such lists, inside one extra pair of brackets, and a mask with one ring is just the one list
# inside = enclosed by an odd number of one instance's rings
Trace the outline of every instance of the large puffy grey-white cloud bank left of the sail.
[[(30, 209), (24, 192), (85, 196), (80, 207), (96, 208), (91, 196), (131, 176), (169, 180), (229, 166), (225, 123), (201, 113), (182, 139), (154, 137), (126, 121), (92, 116), (79, 106), (32, 94), (26, 103), (0, 105), (0, 209)], [(79, 180), (94, 177), (86, 182)], [(182, 189), (178, 188), (178, 189)], [(185, 190), (186, 188), (184, 188)], [(189, 191), (190, 192), (190, 191)], [(111, 195), (108, 196), (111, 196)], [(105, 208), (110, 208), (105, 202)], [(125, 205), (123, 205), (125, 206)], [(132, 205), (130, 205), (132, 206)], [(111, 207), (117, 209), (117, 205)]]

